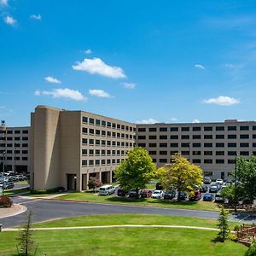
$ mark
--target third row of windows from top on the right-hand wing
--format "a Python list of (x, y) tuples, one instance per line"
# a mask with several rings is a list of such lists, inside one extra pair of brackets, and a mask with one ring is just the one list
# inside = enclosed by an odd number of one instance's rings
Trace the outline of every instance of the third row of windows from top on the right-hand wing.
[[(240, 146), (240, 148), (249, 148), (250, 147), (250, 143), (170, 143), (170, 147), (171, 148), (189, 148), (190, 145), (193, 148), (212, 148), (212, 147), (216, 147), (216, 148), (224, 148), (224, 147), (228, 147), (228, 148), (236, 148), (237, 145)], [(251, 143), (253, 148), (256, 148), (256, 143)], [(138, 143), (137, 144), (138, 147), (142, 147), (142, 148), (146, 148), (147, 144), (146, 143)], [(156, 148), (158, 146), (157, 143), (148, 143), (148, 147), (149, 148)], [(167, 148), (168, 147), (168, 143), (159, 143), (159, 147), (160, 148)]]

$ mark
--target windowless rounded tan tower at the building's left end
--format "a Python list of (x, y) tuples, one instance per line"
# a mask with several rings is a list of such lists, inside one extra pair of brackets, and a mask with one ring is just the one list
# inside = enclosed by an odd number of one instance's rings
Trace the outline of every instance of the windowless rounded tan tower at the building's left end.
[(61, 186), (61, 109), (38, 106), (32, 113), (32, 189)]

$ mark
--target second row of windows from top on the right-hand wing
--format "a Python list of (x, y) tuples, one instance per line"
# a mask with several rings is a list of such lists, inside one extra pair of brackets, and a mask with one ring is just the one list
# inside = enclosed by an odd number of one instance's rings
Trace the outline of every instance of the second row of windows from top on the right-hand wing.
[[(201, 135), (193, 135), (191, 136), (193, 139), (213, 139), (213, 135), (204, 135), (203, 137)], [(249, 139), (250, 138), (250, 135), (249, 134), (240, 134), (240, 139)], [(145, 140), (147, 139), (147, 137), (145, 135), (139, 135), (137, 137), (139, 140)], [(156, 135), (149, 135), (148, 136), (148, 139), (149, 140), (156, 140), (156, 139), (160, 139), (160, 140), (167, 140), (169, 137), (167, 135), (160, 135), (159, 137), (157, 137)], [(178, 135), (171, 135), (170, 136), (170, 139), (171, 140), (178, 140), (178, 139), (182, 139), (182, 140), (189, 140), (190, 139), (190, 136), (189, 135), (182, 135), (181, 137), (178, 137)], [(236, 139), (238, 138), (238, 136), (236, 134), (228, 134), (227, 136), (225, 136), (224, 134), (216, 134), (215, 139), (225, 139), (225, 138), (228, 138), (228, 139)], [(256, 134), (253, 134), (252, 135), (252, 138), (253, 139), (256, 139)]]

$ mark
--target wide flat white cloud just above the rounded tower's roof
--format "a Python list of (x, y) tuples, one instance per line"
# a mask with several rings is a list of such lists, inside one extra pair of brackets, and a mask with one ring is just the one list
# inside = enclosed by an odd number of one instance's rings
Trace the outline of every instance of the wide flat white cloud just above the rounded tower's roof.
[(83, 102), (87, 101), (87, 98), (83, 96), (79, 92), (79, 90), (72, 90), (68, 88), (43, 90), (43, 91), (36, 90), (34, 94), (35, 96), (45, 95), (45, 96), (52, 96), (53, 98), (64, 98), (68, 100), (83, 101)]

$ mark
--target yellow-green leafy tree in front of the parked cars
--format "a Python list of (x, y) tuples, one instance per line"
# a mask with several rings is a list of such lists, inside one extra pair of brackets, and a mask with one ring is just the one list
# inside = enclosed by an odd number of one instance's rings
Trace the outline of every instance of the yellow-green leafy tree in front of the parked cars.
[[(165, 189), (177, 189), (194, 195), (196, 185), (202, 185), (202, 170), (180, 154), (175, 154), (172, 163), (160, 167), (157, 172), (160, 183)], [(178, 197), (179, 198), (179, 197)]]

